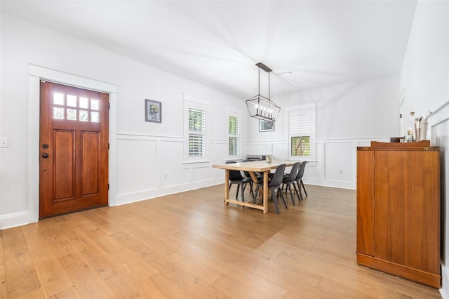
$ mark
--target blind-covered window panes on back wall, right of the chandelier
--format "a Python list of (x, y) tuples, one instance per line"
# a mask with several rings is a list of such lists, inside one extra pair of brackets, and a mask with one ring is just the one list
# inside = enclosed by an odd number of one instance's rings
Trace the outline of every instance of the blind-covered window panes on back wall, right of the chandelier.
[(290, 111), (290, 157), (311, 157), (312, 109)]

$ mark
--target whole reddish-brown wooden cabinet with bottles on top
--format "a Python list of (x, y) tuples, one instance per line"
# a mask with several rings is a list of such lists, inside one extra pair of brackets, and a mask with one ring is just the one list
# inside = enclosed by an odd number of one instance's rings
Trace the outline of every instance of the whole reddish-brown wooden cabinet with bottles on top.
[(357, 263), (441, 287), (440, 153), (429, 141), (357, 148)]

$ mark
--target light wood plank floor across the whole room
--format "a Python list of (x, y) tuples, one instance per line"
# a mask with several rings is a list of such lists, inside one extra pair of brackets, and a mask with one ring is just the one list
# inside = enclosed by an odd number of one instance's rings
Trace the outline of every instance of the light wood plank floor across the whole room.
[(218, 185), (2, 230), (0, 298), (441, 298), (356, 264), (354, 190), (306, 187), (279, 215)]

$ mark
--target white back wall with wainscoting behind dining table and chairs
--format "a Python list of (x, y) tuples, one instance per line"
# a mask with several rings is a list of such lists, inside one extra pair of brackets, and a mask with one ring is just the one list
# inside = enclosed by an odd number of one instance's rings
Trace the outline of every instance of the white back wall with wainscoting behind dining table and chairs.
[[(251, 134), (246, 149), (287, 159), (288, 107), (316, 102), (316, 160), (307, 164), (304, 182), (356, 189), (357, 147), (400, 134), (399, 91), (395, 74), (273, 99), (282, 107), (275, 131)], [(257, 132), (257, 121), (253, 123), (251, 130)]]

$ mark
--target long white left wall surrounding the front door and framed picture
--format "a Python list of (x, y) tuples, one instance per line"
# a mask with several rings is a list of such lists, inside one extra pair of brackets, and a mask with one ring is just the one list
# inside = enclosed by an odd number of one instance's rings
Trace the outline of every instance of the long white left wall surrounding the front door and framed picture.
[[(222, 112), (246, 109), (244, 100), (2, 14), (0, 137), (9, 146), (0, 150), (0, 229), (38, 218), (39, 74), (111, 94), (110, 204), (223, 182), (224, 172), (210, 167), (225, 162)], [(184, 93), (210, 100), (208, 163), (183, 163)], [(145, 122), (146, 98), (162, 102), (162, 124)]]

